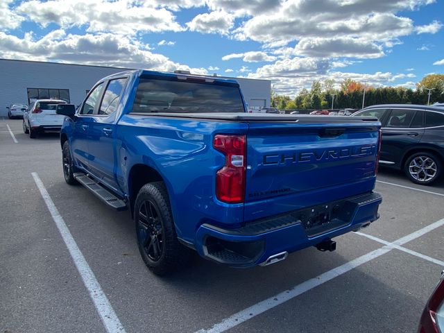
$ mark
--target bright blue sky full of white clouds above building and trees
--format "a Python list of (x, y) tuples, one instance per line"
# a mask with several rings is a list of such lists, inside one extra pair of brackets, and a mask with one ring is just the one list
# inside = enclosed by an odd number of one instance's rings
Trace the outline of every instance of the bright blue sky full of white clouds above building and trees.
[(444, 72), (443, 0), (0, 2), (0, 58), (415, 87)]

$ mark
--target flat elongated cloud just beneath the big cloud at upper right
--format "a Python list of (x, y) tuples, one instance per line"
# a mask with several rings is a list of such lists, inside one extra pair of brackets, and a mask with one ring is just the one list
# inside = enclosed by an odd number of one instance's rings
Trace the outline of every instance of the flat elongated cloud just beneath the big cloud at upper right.
[(351, 37), (302, 38), (296, 45), (296, 54), (314, 58), (380, 58), (382, 47), (373, 42)]

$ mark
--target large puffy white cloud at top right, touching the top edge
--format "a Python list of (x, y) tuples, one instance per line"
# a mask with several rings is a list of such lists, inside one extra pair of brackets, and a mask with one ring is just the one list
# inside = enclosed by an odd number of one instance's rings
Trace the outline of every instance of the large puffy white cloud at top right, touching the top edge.
[(412, 33), (412, 20), (394, 14), (409, 8), (407, 2), (422, 1), (286, 1), (273, 14), (249, 19), (235, 37), (273, 44), (321, 36), (382, 42)]

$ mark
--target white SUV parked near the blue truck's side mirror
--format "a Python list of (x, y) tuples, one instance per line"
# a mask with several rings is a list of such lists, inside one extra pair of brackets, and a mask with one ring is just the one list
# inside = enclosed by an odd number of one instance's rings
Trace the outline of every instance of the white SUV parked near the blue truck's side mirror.
[(56, 114), (58, 104), (67, 102), (58, 99), (37, 99), (23, 116), (23, 131), (31, 139), (44, 132), (60, 132), (65, 116)]

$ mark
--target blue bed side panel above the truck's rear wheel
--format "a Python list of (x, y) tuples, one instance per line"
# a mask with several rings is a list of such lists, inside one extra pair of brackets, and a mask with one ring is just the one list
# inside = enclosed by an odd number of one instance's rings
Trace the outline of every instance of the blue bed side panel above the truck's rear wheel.
[(216, 133), (246, 134), (247, 130), (246, 123), (123, 115), (117, 128), (119, 186), (128, 193), (127, 177), (136, 164), (160, 173), (178, 237), (187, 241), (194, 242), (203, 223), (240, 225), (244, 205), (227, 205), (214, 195), (215, 175), (225, 157), (212, 148), (212, 139)]

